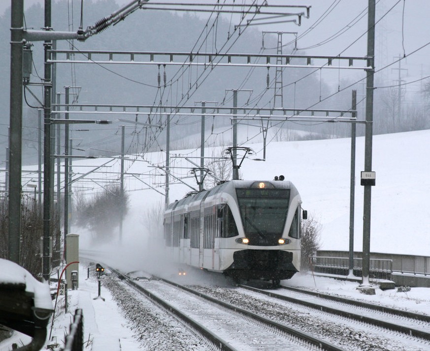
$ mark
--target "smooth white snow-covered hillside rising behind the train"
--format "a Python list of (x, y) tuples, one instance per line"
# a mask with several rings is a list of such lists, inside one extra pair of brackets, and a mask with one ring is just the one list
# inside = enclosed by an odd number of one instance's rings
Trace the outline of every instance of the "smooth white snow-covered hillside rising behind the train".
[[(349, 197), (350, 197), (350, 139), (330, 139), (300, 142), (271, 142), (267, 146), (266, 160), (262, 144), (245, 144), (256, 151), (243, 161), (240, 174), (243, 179), (273, 179), (284, 175), (298, 188), (303, 208), (322, 224), (321, 249), (348, 250), (349, 247)], [(215, 153), (220, 153), (218, 147)], [(429, 255), (430, 247), (430, 130), (408, 133), (375, 135), (373, 137), (373, 171), (376, 186), (372, 187), (371, 244), (372, 252)], [(205, 155), (213, 154), (211, 149)], [(184, 156), (198, 163), (200, 150), (173, 151), (171, 172), (177, 177), (188, 175), (184, 181), (198, 188), (189, 169), (196, 167)], [(363, 187), (360, 171), (364, 170), (364, 137), (357, 138), (355, 187), (355, 242), (354, 250), (362, 251), (363, 237)], [(131, 156), (131, 158), (133, 158)], [(75, 173), (87, 173), (88, 165), (101, 165), (106, 158), (73, 162)], [(164, 197), (142, 182), (156, 184), (164, 193), (164, 177), (154, 175), (152, 165), (164, 166), (165, 153), (145, 154), (126, 162), (126, 172), (139, 174), (126, 178), (130, 191), (131, 209), (124, 226), (124, 241), (142, 237), (145, 232), (142, 213), (154, 205), (164, 206)], [(79, 167), (85, 165), (86, 167)], [(106, 170), (106, 177), (120, 170), (118, 159), (113, 159)], [(103, 170), (103, 169), (100, 169)], [(149, 175), (151, 173), (152, 175)], [(161, 174), (161, 173), (160, 173)], [(91, 177), (92, 175), (88, 175)], [(100, 175), (99, 175), (100, 176)], [(116, 177), (118, 178), (118, 177)], [(173, 178), (172, 178), (173, 179)], [(95, 182), (91, 186), (97, 188)], [(147, 190), (142, 190), (147, 189)], [(170, 186), (170, 202), (181, 199), (191, 191), (175, 181)], [(82, 232), (76, 228), (74, 232)], [(81, 236), (81, 239), (84, 237)], [(132, 240), (132, 242), (135, 242)]]

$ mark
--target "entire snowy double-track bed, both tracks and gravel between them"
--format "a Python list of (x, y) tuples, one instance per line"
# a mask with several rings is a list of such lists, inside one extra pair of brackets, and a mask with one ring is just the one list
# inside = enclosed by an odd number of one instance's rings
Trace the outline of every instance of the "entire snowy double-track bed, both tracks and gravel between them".
[(211, 345), (195, 350), (430, 350), (428, 315), (297, 288), (184, 287), (111, 270)]

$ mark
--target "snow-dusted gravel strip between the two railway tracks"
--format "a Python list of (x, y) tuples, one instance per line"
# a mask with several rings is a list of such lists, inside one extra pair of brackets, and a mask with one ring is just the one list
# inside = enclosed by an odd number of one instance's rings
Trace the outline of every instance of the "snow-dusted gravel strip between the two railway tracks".
[(299, 306), (241, 288), (192, 286), (199, 292), (250, 310), (273, 321), (292, 326), (345, 350), (422, 351), (430, 350), (428, 341), (352, 321), (314, 308)]

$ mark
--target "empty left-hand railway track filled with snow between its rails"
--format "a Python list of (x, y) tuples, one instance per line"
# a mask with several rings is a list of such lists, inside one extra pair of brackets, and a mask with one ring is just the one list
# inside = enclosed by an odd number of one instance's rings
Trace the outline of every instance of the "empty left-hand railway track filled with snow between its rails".
[(136, 281), (111, 270), (134, 289), (186, 321), (219, 350), (344, 350), (193, 289), (163, 279)]

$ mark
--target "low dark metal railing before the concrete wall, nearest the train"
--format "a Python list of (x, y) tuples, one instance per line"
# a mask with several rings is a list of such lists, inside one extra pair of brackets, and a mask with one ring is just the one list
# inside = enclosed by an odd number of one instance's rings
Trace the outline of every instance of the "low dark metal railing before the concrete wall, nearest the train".
[[(311, 257), (313, 270), (317, 273), (327, 273), (335, 275), (349, 274), (349, 259), (345, 257)], [(354, 259), (353, 274), (361, 277), (363, 271), (363, 260)], [(393, 273), (393, 261), (386, 259), (370, 259), (370, 278), (391, 280)]]

